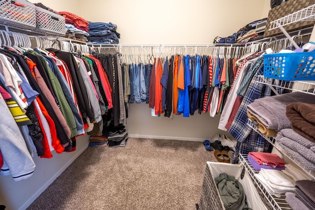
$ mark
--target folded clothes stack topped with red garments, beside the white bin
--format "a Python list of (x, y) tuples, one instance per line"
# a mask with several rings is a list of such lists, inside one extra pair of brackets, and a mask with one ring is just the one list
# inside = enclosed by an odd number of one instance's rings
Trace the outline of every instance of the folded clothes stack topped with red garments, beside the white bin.
[(64, 37), (77, 40), (77, 41), (88, 41), (89, 36), (89, 22), (84, 18), (75, 15), (71, 12), (59, 12), (65, 18), (65, 27), (67, 32)]

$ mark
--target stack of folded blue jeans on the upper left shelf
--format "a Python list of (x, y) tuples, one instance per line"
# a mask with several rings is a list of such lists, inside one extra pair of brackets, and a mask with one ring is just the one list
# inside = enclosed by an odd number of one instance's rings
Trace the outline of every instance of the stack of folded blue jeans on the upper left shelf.
[(118, 44), (120, 33), (112, 23), (89, 22), (89, 43), (91, 44)]

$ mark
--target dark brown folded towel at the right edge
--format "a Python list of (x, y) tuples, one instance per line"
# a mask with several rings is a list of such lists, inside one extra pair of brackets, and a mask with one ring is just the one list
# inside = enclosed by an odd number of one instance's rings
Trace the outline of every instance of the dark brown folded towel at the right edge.
[(315, 104), (290, 103), (286, 106), (285, 114), (295, 132), (315, 142)]

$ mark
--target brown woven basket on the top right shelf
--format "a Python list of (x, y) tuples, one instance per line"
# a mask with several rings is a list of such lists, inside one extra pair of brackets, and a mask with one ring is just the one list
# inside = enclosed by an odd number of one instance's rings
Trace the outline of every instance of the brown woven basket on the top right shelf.
[[(315, 3), (315, 0), (288, 0), (280, 4), (279, 6), (276, 6), (275, 8), (269, 10), (264, 37), (282, 34), (280, 29), (269, 30), (270, 22), (277, 20), (279, 18), (282, 18), (286, 15), (292, 14), (293, 12), (304, 9), (305, 7), (313, 5), (314, 3)], [(290, 32), (294, 30), (300, 30), (300, 29), (312, 27), (314, 26), (314, 24), (315, 24), (315, 21), (299, 21), (299, 22), (284, 26), (284, 29), (287, 32)]]

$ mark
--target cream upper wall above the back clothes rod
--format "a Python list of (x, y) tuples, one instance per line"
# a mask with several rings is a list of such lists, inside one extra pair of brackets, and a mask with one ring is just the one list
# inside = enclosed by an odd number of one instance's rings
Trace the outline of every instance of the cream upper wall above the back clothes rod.
[(260, 19), (265, 1), (94, 0), (81, 15), (116, 24), (123, 44), (204, 44)]

